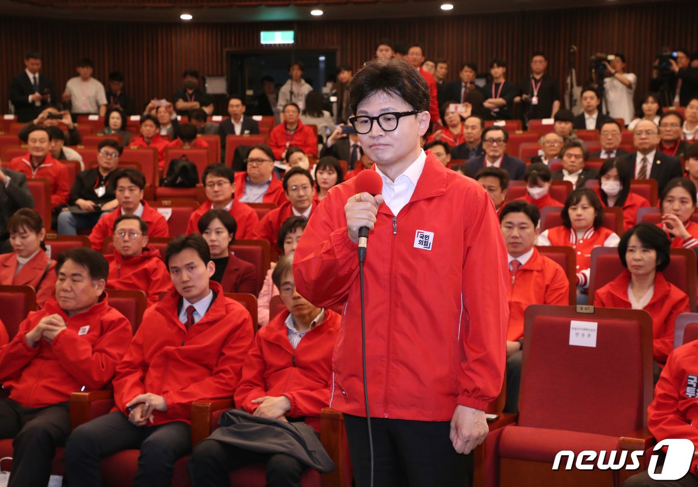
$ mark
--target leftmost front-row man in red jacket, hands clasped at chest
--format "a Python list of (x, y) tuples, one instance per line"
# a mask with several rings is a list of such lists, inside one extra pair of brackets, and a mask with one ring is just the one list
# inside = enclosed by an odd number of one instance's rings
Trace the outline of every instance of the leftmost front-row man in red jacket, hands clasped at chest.
[(107, 261), (92, 249), (58, 257), (56, 295), (0, 348), (0, 438), (14, 438), (11, 487), (45, 486), (56, 447), (70, 433), (68, 399), (101, 389), (131, 341), (131, 323), (110, 307)]

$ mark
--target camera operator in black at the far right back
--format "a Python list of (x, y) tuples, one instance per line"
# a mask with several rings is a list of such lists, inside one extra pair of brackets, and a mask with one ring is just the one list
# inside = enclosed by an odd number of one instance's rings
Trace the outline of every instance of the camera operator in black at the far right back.
[(658, 54), (652, 66), (651, 91), (660, 92), (664, 106), (685, 107), (698, 96), (698, 67), (691, 61), (698, 54), (688, 56), (687, 49)]

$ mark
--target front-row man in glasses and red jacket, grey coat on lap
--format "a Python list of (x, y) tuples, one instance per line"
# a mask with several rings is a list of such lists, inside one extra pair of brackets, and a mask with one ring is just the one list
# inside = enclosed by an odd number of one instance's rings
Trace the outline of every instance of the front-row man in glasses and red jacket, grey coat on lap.
[[(332, 350), (341, 316), (313, 306), (296, 291), (292, 258), (279, 259), (272, 279), (287, 311), (255, 336), (242, 366), (235, 405), (260, 418), (305, 422), (320, 432), (320, 411), (329, 405)], [(307, 427), (307, 426), (306, 426)], [(228, 487), (228, 472), (266, 463), (267, 486), (301, 485), (305, 465), (283, 451), (258, 453), (216, 440), (200, 442), (189, 468), (194, 487)]]

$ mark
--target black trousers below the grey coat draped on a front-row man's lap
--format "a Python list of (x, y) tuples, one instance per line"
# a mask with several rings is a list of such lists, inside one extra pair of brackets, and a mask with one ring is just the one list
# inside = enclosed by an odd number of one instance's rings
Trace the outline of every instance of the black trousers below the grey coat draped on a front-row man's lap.
[(193, 487), (230, 487), (229, 473), (255, 463), (264, 463), (267, 487), (300, 487), (306, 466), (285, 454), (261, 454), (218, 440), (199, 443), (189, 460)]

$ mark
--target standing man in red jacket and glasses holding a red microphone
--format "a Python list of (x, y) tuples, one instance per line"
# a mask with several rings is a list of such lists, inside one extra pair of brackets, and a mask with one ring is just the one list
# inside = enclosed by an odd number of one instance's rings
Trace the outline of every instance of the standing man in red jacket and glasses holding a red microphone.
[(349, 98), (383, 193), (355, 194), (351, 182), (332, 188), (294, 257), (301, 295), (318, 307), (347, 302), (330, 405), (344, 413), (357, 486), (369, 485), (357, 258), (366, 226), (375, 485), (462, 486), (472, 456), (461, 454), (487, 435), (484, 409), (503, 381), (507, 250), (482, 186), (419, 148), (430, 117), (429, 87), (417, 70), (369, 61)]

